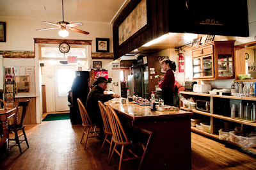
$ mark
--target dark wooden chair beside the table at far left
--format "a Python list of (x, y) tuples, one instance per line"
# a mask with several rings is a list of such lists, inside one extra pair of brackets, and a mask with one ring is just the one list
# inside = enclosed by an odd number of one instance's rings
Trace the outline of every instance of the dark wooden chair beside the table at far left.
[[(26, 133), (25, 133), (25, 130), (24, 130), (25, 125), (23, 125), (23, 121), (24, 121), (24, 118), (26, 116), (26, 112), (28, 110), (29, 100), (27, 100), (25, 102), (18, 102), (17, 109), (16, 109), (17, 112), (14, 115), (13, 124), (10, 125), (9, 129), (8, 129), (9, 134), (10, 134), (10, 132), (14, 132), (14, 134), (15, 134), (15, 139), (10, 139), (9, 138), (8, 141), (16, 141), (16, 144), (18, 144), (18, 146), (19, 146), (20, 154), (22, 154), (22, 151), (21, 151), (21, 148), (20, 148), (20, 143), (22, 143), (23, 141), (26, 141), (27, 146), (29, 148), (28, 139), (26, 137)], [(18, 124), (18, 113), (20, 112), (20, 109), (22, 109), (22, 114), (21, 114), (21, 118), (20, 118), (20, 123)], [(23, 132), (21, 135), (18, 135), (19, 130), (22, 130), (22, 132)], [(24, 139), (19, 139), (19, 137), (22, 136), (22, 135), (24, 135)], [(13, 145), (13, 146), (17, 146), (17, 145)]]

